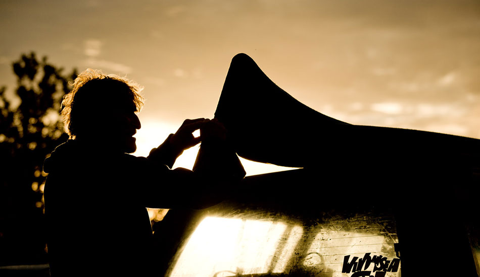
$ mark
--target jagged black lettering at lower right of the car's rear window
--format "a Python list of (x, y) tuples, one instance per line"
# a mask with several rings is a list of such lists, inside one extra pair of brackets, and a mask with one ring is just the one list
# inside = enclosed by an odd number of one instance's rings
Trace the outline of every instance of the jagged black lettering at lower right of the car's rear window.
[[(394, 258), (389, 260), (387, 257), (382, 255), (370, 256), (371, 253), (365, 253), (363, 258), (352, 257), (350, 260), (350, 255), (344, 257), (344, 263), (342, 266), (342, 273), (354, 272), (351, 277), (362, 277), (370, 276), (371, 270), (367, 270), (368, 267), (373, 264), (373, 272), (375, 272), (375, 277), (383, 277), (386, 272), (397, 272), (400, 265), (400, 259)], [(350, 260), (350, 261), (349, 261)], [(362, 270), (363, 269), (363, 270)]]

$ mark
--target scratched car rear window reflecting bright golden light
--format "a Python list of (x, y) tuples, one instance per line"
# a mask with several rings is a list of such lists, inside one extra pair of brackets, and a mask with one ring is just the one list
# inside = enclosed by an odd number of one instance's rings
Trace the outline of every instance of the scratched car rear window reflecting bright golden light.
[(400, 276), (393, 218), (355, 215), (305, 222), (261, 211), (209, 213), (167, 276)]

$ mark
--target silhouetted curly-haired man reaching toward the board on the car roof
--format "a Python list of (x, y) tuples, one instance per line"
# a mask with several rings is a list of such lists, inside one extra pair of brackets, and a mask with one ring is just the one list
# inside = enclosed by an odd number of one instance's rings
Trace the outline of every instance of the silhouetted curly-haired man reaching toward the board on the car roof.
[[(222, 170), (222, 154), (195, 172), (169, 169), (183, 150), (201, 141), (202, 148), (225, 146), (225, 129), (215, 120), (185, 120), (147, 158), (126, 154), (136, 149), (139, 92), (126, 79), (87, 70), (64, 98), (70, 140), (44, 163), (54, 277), (150, 274), (155, 263), (146, 207), (202, 208), (219, 202), (224, 185), (235, 179)], [(192, 132), (199, 128), (195, 138)]]

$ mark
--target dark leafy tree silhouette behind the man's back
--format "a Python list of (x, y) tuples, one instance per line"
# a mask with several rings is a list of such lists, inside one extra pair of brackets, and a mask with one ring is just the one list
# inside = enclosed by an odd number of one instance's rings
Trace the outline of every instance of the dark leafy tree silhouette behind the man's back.
[(17, 99), (0, 88), (0, 265), (46, 261), (42, 164), (68, 138), (59, 111), (76, 77), (33, 52), (14, 62), (13, 71)]

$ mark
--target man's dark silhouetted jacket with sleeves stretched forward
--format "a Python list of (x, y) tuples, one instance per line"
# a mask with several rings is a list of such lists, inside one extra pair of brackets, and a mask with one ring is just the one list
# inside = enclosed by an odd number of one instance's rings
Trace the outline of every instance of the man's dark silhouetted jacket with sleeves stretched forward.
[(169, 169), (177, 158), (169, 138), (147, 158), (69, 140), (45, 160), (52, 276), (147, 275), (153, 252), (146, 207), (195, 208), (205, 196), (218, 199), (214, 173)]

